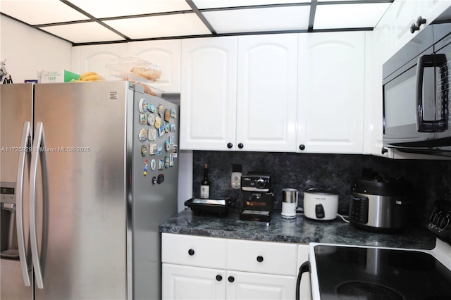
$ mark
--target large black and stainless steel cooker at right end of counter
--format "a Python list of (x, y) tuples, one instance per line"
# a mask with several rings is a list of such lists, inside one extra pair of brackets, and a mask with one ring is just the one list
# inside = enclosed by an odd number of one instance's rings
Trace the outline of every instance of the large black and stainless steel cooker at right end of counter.
[(350, 223), (371, 232), (396, 232), (407, 226), (409, 182), (371, 173), (351, 184)]

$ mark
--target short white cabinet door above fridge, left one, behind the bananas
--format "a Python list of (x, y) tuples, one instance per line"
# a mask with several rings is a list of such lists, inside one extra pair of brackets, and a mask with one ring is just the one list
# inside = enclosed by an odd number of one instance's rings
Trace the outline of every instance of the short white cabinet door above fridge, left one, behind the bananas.
[(125, 56), (128, 56), (126, 43), (75, 46), (72, 49), (72, 71), (78, 74), (93, 71), (107, 80), (122, 80), (121, 77), (112, 76), (111, 73), (115, 71), (106, 68), (106, 64)]

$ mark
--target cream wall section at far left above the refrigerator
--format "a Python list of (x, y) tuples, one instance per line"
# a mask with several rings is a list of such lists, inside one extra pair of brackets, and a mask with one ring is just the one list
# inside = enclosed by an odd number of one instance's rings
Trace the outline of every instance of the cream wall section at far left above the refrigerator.
[(14, 83), (37, 79), (37, 70), (70, 70), (72, 44), (0, 15), (0, 61)]

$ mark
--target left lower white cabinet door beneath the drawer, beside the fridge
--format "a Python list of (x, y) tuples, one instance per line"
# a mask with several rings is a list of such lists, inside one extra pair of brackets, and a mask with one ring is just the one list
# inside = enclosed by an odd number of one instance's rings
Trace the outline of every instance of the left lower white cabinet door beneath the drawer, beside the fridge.
[(162, 299), (226, 299), (226, 271), (162, 264)]

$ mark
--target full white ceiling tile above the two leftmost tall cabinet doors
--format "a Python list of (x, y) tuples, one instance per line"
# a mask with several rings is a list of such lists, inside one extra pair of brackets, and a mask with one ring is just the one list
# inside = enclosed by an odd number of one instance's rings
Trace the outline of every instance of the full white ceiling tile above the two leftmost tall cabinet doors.
[(216, 33), (307, 30), (310, 6), (206, 11)]

